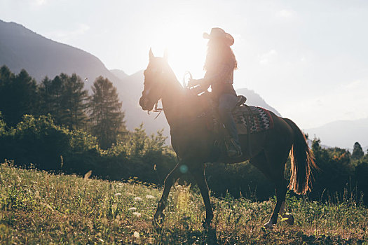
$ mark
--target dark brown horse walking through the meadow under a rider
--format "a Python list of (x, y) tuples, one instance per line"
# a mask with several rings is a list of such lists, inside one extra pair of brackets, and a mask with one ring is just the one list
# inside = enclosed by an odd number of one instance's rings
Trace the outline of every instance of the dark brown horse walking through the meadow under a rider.
[[(196, 180), (205, 203), (205, 228), (210, 227), (213, 211), (205, 179), (205, 162), (214, 160), (213, 148), (216, 136), (207, 129), (205, 119), (198, 117), (204, 108), (198, 96), (193, 95), (177, 80), (165, 57), (154, 57), (149, 50), (149, 64), (144, 71), (144, 90), (139, 104), (144, 111), (151, 111), (159, 99), (162, 99), (165, 117), (170, 125), (172, 148), (179, 158), (179, 163), (168, 174), (164, 182), (163, 195), (158, 202), (154, 222), (161, 223), (165, 215), (166, 202), (173, 183), (188, 169)], [(311, 169), (315, 167), (306, 138), (299, 127), (287, 118), (280, 118), (270, 112), (273, 128), (255, 134), (249, 139), (240, 135), (243, 155), (240, 158), (221, 158), (221, 162), (234, 163), (250, 160), (275, 185), (277, 202), (266, 228), (273, 228), (278, 214), (294, 223), (291, 214), (285, 214), (285, 195), (287, 181), (284, 178), (285, 163), (288, 156), (292, 162), (292, 176), (288, 188), (297, 194), (306, 194), (310, 190)], [(248, 143), (250, 142), (250, 144)], [(291, 150), (291, 151), (290, 151)]]

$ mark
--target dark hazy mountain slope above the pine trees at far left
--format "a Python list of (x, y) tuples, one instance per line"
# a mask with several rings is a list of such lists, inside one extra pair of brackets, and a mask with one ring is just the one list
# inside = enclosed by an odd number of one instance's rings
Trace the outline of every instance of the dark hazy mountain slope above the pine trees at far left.
[(14, 22), (0, 20), (0, 66), (4, 64), (14, 73), (25, 69), (39, 82), (45, 76), (54, 78), (62, 72), (88, 78), (86, 87), (90, 87), (97, 76), (118, 81), (94, 55), (57, 43)]

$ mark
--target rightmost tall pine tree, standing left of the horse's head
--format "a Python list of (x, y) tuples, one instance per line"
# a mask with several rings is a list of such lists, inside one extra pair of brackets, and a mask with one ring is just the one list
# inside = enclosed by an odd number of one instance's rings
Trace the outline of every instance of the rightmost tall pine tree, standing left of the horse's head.
[(118, 100), (116, 87), (102, 76), (93, 83), (90, 99), (90, 120), (92, 132), (101, 148), (109, 148), (116, 143), (119, 132), (125, 131), (124, 113)]

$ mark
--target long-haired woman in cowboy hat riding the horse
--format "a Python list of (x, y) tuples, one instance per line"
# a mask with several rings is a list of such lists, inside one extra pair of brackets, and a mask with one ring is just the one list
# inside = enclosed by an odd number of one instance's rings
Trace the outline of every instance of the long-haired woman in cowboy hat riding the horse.
[(211, 86), (212, 98), (219, 104), (219, 116), (231, 137), (228, 155), (238, 158), (242, 155), (242, 151), (238, 130), (231, 115), (231, 111), (238, 103), (238, 97), (233, 88), (233, 71), (237, 68), (237, 62), (230, 48), (234, 38), (218, 27), (212, 28), (210, 34), (203, 34), (203, 38), (209, 39), (204, 66), (205, 78), (192, 79), (188, 85), (189, 87), (198, 85), (192, 88), (195, 94), (207, 91)]

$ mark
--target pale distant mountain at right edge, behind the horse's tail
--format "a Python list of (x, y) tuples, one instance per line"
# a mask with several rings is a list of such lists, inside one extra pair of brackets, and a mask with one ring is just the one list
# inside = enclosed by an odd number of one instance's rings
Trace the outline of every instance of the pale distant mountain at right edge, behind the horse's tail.
[(365, 149), (367, 152), (368, 146), (368, 118), (360, 120), (338, 120), (332, 123), (327, 123), (321, 127), (315, 127), (304, 132), (309, 134), (309, 137), (317, 137), (321, 143), (327, 146), (337, 146), (340, 148), (352, 149), (355, 142)]

